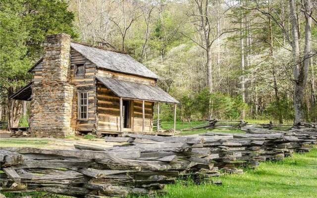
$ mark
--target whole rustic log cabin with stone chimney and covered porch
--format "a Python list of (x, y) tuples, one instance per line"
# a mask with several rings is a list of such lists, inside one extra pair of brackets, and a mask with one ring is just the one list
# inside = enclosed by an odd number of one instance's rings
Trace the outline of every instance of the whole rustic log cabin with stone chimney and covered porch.
[(31, 101), (32, 136), (154, 133), (159, 102), (173, 104), (176, 116), (178, 101), (157, 86), (155, 73), (127, 54), (71, 42), (67, 34), (48, 36), (29, 72), (32, 82), (10, 98)]

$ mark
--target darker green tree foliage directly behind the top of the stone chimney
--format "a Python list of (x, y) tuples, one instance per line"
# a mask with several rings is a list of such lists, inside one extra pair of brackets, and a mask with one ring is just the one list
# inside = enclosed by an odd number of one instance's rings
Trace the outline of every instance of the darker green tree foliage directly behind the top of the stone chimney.
[(67, 33), (77, 35), (72, 29), (74, 14), (67, 10), (64, 0), (23, 0), (23, 19), (28, 30), (28, 56), (38, 58), (46, 35)]

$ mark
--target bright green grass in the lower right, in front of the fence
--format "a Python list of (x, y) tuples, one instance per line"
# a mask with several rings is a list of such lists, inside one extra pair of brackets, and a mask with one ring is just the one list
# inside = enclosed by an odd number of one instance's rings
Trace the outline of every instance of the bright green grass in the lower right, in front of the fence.
[(218, 179), (222, 186), (178, 181), (158, 198), (317, 198), (317, 148)]

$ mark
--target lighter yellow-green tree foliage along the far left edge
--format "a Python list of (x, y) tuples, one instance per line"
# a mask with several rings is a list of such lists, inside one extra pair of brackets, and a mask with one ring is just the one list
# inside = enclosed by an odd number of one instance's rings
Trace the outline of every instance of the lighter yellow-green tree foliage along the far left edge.
[(26, 57), (28, 38), (27, 27), (23, 18), (17, 13), (22, 12), (21, 0), (2, 0), (0, 6), (0, 93), (6, 93), (23, 86), (30, 78), (27, 69), (30, 60)]

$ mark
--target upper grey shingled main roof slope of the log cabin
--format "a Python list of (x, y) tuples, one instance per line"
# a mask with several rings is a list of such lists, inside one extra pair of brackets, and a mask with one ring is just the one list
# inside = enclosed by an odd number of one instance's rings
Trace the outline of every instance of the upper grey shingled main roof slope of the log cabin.
[(70, 43), (70, 46), (95, 63), (98, 67), (115, 72), (138, 75), (158, 79), (146, 66), (133, 59), (131, 56), (110, 50), (89, 47), (77, 43)]

